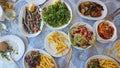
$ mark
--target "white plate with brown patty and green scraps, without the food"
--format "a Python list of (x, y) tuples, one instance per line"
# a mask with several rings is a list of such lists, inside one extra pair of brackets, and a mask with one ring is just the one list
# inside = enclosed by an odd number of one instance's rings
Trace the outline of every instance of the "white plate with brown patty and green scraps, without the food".
[[(18, 61), (19, 59), (22, 58), (25, 51), (25, 45), (19, 37), (15, 35), (7, 35), (0, 38), (0, 42), (2, 41), (7, 42), (9, 46), (12, 46), (15, 51), (18, 51), (18, 54), (11, 55), (15, 61)], [(0, 60), (5, 63), (12, 62), (12, 61), (6, 60), (5, 58), (2, 58), (1, 56), (0, 56)]]

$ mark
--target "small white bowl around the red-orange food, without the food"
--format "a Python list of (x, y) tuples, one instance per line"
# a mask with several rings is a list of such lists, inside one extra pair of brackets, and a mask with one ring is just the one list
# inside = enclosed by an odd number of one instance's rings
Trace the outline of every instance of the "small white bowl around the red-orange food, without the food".
[[(114, 34), (113, 36), (110, 38), (110, 39), (103, 39), (102, 37), (99, 36), (98, 34), (98, 25), (103, 22), (103, 21), (106, 21), (110, 24), (110, 26), (112, 26), (114, 28)], [(97, 40), (101, 43), (108, 43), (108, 42), (112, 42), (112, 41), (115, 41), (117, 39), (117, 29), (115, 27), (115, 25), (113, 24), (113, 22), (111, 21), (108, 21), (108, 20), (99, 20), (99, 21), (96, 21), (95, 24), (93, 25), (94, 29), (95, 29), (95, 32), (96, 32), (96, 35), (97, 35)]]

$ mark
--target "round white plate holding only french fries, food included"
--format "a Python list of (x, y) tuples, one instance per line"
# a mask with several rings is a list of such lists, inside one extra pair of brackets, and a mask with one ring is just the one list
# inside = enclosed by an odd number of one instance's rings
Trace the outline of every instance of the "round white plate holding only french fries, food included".
[(45, 38), (45, 50), (54, 57), (66, 55), (70, 49), (68, 35), (62, 31), (53, 31)]

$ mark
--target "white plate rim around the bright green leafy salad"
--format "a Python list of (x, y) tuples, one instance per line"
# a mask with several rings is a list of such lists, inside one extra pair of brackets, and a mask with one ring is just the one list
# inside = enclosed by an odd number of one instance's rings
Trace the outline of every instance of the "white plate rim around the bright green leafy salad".
[[(52, 5), (54, 3), (54, 0), (49, 0), (49, 1), (47, 1), (44, 5), (43, 5), (43, 7), (42, 8), (44, 8), (44, 7), (48, 7), (49, 5)], [(63, 26), (61, 26), (61, 27), (52, 27), (52, 26), (50, 26), (50, 25), (48, 25), (48, 24), (46, 24), (49, 28), (51, 28), (51, 29), (53, 29), (53, 30), (60, 30), (60, 29), (63, 29), (63, 28), (65, 28), (65, 27), (67, 27), (69, 24), (70, 24), (70, 22), (71, 22), (71, 20), (72, 20), (72, 9), (71, 9), (71, 7), (66, 3), (66, 2), (64, 2), (65, 4), (66, 4), (66, 6), (67, 6), (67, 8), (69, 9), (69, 11), (70, 11), (70, 16), (71, 16), (71, 18), (70, 18), (70, 20), (68, 21), (68, 23), (67, 24), (65, 24), (65, 25), (63, 25)]]

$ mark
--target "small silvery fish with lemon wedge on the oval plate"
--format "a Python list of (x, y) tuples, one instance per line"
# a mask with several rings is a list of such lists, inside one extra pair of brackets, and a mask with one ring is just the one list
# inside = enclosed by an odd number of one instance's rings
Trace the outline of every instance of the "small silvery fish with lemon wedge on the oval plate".
[(25, 16), (22, 18), (22, 23), (28, 34), (40, 31), (41, 15), (38, 6), (32, 4), (25, 7)]

